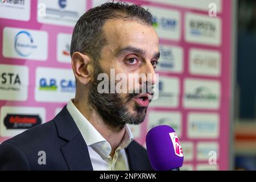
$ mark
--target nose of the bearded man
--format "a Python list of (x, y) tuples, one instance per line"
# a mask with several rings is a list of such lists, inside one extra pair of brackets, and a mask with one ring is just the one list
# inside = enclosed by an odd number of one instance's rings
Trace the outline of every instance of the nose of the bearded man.
[[(155, 69), (152, 66), (151, 62), (144, 64), (141, 70), (141, 73), (146, 75), (147, 83), (151, 85), (155, 85), (156, 76), (155, 76)], [(139, 79), (139, 84), (143, 84), (142, 79)]]

